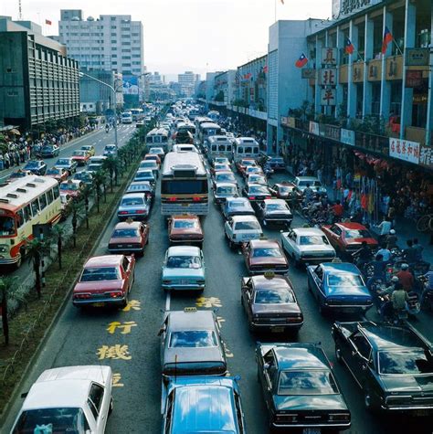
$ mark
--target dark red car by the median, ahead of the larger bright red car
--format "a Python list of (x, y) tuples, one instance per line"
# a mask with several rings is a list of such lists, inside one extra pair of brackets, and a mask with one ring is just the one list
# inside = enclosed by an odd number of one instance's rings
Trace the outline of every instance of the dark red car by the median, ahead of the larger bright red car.
[(108, 249), (110, 253), (137, 253), (143, 256), (148, 242), (149, 225), (129, 218), (114, 227)]

